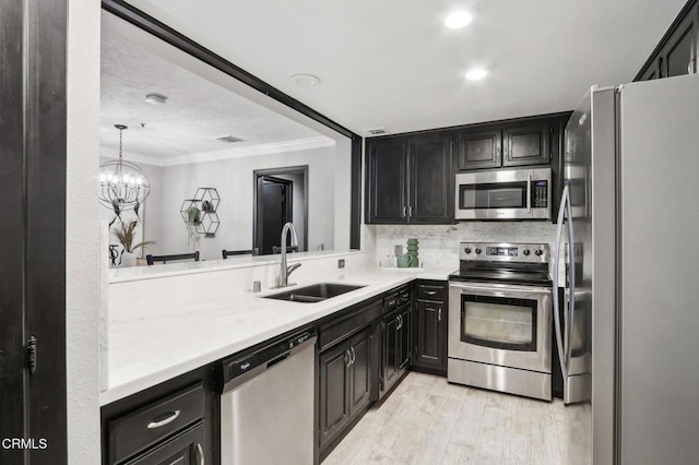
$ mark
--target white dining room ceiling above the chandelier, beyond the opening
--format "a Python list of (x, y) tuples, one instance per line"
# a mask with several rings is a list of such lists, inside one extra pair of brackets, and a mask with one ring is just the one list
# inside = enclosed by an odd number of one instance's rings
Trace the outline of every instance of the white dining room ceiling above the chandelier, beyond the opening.
[[(100, 61), (99, 136), (104, 156), (118, 154), (116, 123), (129, 127), (123, 133), (125, 157), (154, 165), (333, 143), (232, 92), (226, 87), (237, 84), (232, 78), (221, 72), (212, 76), (216, 72), (211, 67), (106, 12)], [(202, 78), (204, 73), (218, 83)], [(144, 97), (152, 92), (168, 96), (167, 103), (146, 103)], [(225, 135), (245, 142), (225, 144), (216, 140)]]

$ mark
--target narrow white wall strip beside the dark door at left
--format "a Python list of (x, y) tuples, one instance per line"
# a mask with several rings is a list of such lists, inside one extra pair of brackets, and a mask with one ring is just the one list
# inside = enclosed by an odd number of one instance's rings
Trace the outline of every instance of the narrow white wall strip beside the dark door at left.
[(100, 4), (68, 1), (68, 191), (66, 343), (68, 463), (98, 464), (99, 229), (95, 183), (99, 148)]

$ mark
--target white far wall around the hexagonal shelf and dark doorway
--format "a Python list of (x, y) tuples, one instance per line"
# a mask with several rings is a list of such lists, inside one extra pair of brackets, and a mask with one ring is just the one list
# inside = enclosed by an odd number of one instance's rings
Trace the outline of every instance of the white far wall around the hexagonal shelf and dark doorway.
[[(350, 153), (343, 156), (350, 157)], [(323, 147), (162, 168), (161, 203), (158, 205), (156, 199), (147, 202), (146, 238), (157, 242), (149, 251), (180, 253), (194, 250), (187, 245), (187, 229), (179, 211), (182, 201), (191, 199), (200, 187), (216, 188), (221, 196), (217, 210), (221, 226), (216, 236), (199, 235), (198, 243), (193, 246), (202, 259), (218, 259), (222, 249), (250, 249), (252, 171), (299, 165), (308, 165), (308, 249), (316, 250), (320, 242), (325, 249), (332, 249), (334, 222), (328, 218), (334, 217), (335, 207), (335, 147)], [(342, 195), (348, 199), (350, 190)]]

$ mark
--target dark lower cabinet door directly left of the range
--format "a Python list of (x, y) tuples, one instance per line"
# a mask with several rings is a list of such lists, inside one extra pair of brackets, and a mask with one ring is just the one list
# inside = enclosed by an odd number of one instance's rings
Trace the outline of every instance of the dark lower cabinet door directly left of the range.
[(446, 368), (446, 322), (447, 312), (443, 302), (418, 300), (415, 314), (417, 329), (415, 365)]

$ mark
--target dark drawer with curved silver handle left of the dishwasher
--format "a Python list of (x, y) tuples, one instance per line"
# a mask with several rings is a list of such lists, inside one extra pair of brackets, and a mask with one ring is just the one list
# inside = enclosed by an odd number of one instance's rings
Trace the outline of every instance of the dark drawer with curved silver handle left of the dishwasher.
[(204, 402), (199, 383), (109, 421), (109, 463), (120, 463), (203, 418)]

